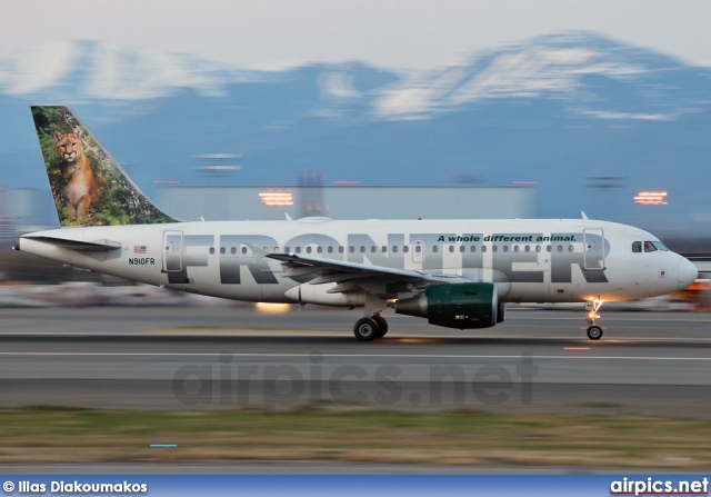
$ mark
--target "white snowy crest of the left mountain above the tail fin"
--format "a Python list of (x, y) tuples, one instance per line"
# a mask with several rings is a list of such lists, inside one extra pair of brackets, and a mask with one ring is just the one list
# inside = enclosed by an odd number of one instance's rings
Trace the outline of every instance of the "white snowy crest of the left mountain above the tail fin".
[(217, 97), (226, 85), (261, 80), (256, 71), (187, 54), (94, 41), (50, 43), (0, 61), (0, 89), (13, 96), (143, 100), (191, 88)]

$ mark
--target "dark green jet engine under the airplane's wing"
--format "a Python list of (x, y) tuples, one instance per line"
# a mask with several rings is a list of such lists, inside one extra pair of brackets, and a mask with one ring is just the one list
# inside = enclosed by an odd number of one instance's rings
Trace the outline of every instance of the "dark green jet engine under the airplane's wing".
[(438, 285), (395, 304), (395, 314), (427, 318), (447, 328), (490, 328), (499, 317), (499, 292), (494, 284)]

